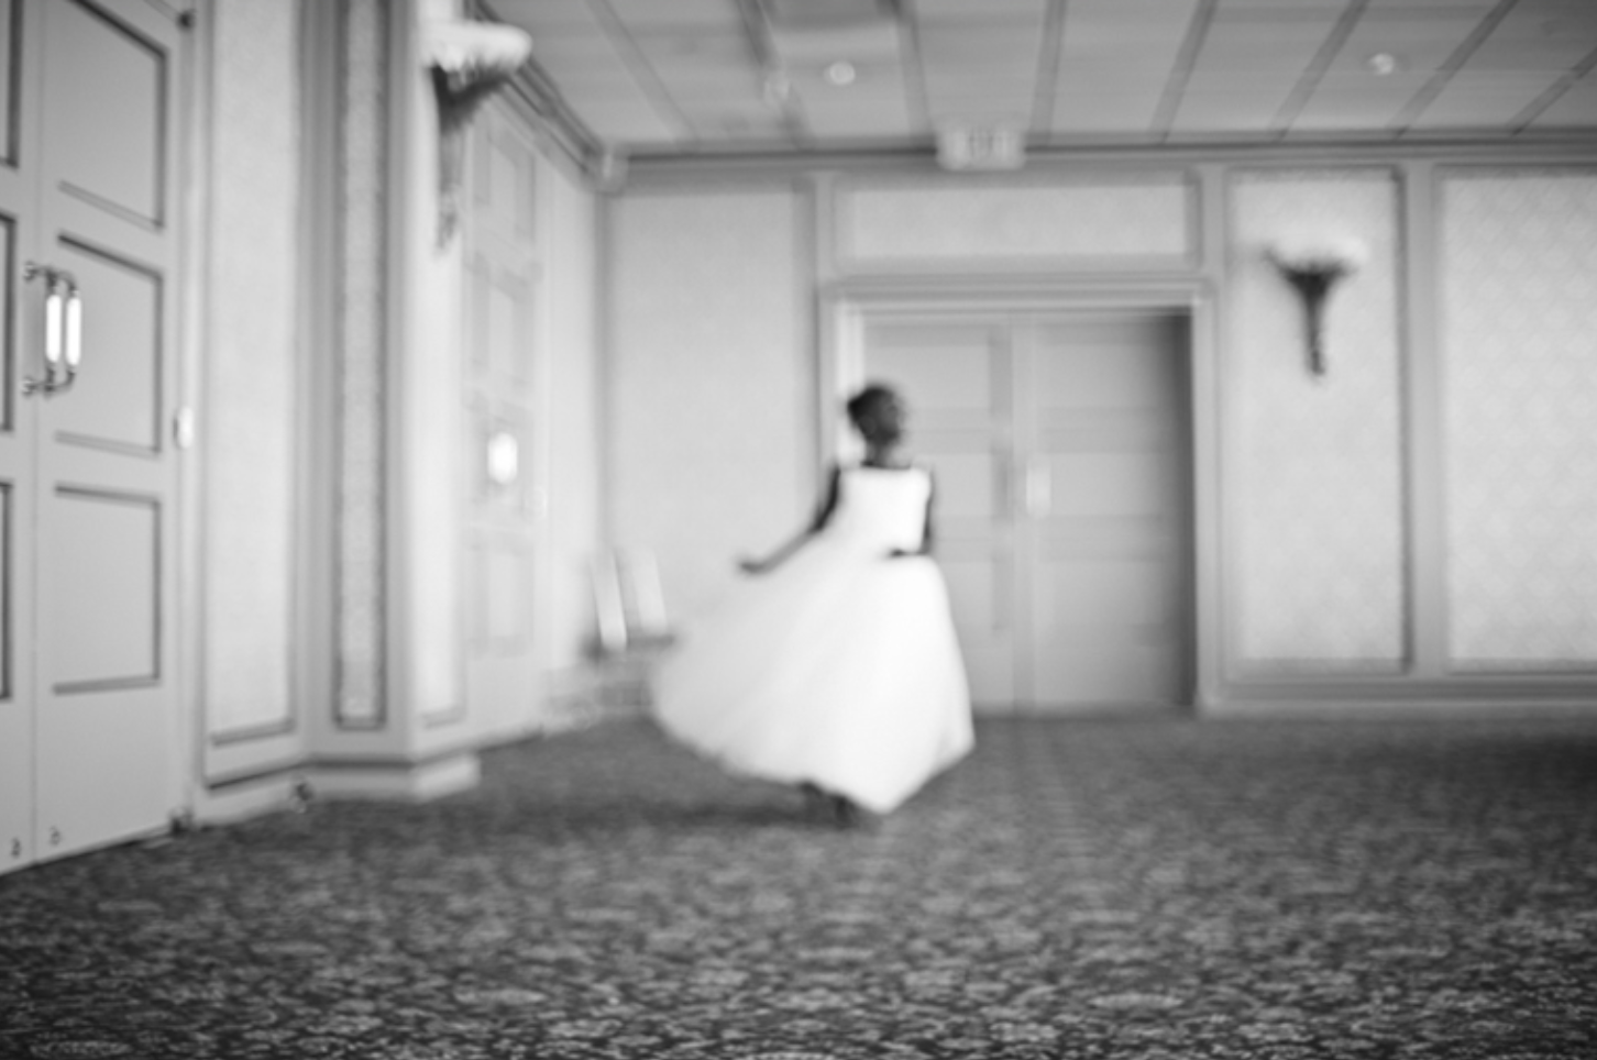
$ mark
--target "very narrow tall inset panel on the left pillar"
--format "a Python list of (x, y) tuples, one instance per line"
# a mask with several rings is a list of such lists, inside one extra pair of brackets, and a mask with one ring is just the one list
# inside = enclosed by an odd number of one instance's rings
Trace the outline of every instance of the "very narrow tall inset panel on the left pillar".
[(343, 14), (337, 718), (369, 728), (383, 722), (385, 666), (388, 5), (350, 0)]

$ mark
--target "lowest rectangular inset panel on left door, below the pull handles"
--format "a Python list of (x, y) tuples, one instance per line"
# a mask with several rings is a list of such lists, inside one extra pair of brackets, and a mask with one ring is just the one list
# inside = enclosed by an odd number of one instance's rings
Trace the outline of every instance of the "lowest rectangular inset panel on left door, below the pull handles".
[(158, 682), (160, 498), (59, 487), (51, 514), (40, 640), (53, 691)]

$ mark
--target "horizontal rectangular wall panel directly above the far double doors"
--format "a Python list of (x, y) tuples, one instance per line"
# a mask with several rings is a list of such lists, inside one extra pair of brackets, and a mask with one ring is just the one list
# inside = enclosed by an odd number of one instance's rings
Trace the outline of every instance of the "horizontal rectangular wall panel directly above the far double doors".
[(859, 265), (1169, 265), (1193, 246), (1193, 190), (1179, 172), (1008, 187), (843, 184), (838, 192), (838, 252)]

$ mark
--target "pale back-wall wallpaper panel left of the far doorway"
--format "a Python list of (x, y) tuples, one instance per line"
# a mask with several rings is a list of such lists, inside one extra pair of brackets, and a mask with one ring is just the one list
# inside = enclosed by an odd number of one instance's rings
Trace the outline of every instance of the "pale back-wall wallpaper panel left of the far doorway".
[(653, 549), (692, 615), (810, 509), (797, 196), (629, 195), (612, 238), (613, 540)]

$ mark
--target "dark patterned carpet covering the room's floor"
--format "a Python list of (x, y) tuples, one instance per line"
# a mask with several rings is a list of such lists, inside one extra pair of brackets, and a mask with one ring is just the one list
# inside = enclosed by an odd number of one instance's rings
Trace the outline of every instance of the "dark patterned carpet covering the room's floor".
[(984, 722), (859, 830), (648, 725), (0, 878), (0, 1057), (1597, 1057), (1597, 718)]

